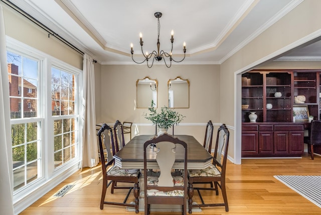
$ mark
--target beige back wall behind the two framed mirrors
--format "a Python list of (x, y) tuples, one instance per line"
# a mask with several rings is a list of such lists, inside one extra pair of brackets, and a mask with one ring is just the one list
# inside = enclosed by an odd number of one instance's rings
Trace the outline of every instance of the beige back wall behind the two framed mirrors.
[(135, 107), (136, 80), (145, 76), (158, 81), (157, 111), (168, 106), (168, 80), (177, 76), (189, 79), (190, 108), (176, 109), (186, 118), (175, 128), (175, 134), (191, 134), (203, 143), (207, 122), (220, 123), (219, 65), (102, 65), (100, 120), (108, 124), (116, 120), (133, 122), (135, 134), (154, 133), (154, 126), (142, 116), (148, 110)]

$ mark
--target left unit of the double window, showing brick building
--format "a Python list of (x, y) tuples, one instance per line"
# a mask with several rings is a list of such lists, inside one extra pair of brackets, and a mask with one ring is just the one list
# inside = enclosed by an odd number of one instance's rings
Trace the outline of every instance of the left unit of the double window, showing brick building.
[[(37, 93), (25, 95), (21, 90), (27, 85), (37, 89), (40, 61), (10, 51), (7, 57), (11, 86), (14, 190), (17, 190), (43, 177), (40, 135), (43, 119), (38, 117), (39, 97)], [(30, 109), (33, 109), (31, 114)]]

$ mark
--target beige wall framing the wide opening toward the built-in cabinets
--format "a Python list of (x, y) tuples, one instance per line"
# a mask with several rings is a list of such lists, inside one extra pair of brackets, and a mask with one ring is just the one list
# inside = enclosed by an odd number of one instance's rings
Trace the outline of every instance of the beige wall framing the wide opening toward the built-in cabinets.
[(314, 37), (320, 36), (321, 23), (317, 21), (321, 19), (320, 8), (321, 1), (303, 1), (221, 64), (221, 121), (234, 126), (229, 152), (234, 151), (235, 163), (241, 161), (241, 121), (238, 117), (241, 115), (241, 96), (239, 94), (241, 91), (241, 72), (278, 56), (281, 54), (280, 50), (288, 51), (293, 48), (291, 44), (298, 40), (303, 44), (307, 42), (307, 38), (311, 38), (311, 35)]

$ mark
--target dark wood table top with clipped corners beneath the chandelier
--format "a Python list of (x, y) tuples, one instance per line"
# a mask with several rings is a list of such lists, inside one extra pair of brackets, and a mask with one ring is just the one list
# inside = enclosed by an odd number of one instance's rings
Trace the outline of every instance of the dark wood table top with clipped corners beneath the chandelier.
[[(140, 135), (133, 137), (124, 148), (114, 155), (115, 165), (124, 169), (143, 169), (143, 144), (145, 141), (153, 138), (154, 135)], [(188, 146), (188, 168), (203, 169), (212, 164), (212, 155), (208, 153), (203, 145), (201, 145), (193, 136), (175, 135), (175, 137), (187, 143)], [(174, 168), (180, 169), (182, 163), (180, 158), (183, 157), (184, 151), (178, 147), (176, 149), (177, 159)], [(155, 161), (156, 153), (149, 159), (151, 168), (157, 168)]]

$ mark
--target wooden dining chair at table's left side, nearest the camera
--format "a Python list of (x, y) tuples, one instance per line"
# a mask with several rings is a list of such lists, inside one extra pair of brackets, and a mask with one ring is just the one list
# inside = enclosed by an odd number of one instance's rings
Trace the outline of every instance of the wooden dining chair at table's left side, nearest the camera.
[[(110, 138), (109, 138), (110, 135)], [(104, 204), (111, 205), (120, 205), (120, 206), (128, 206), (135, 207), (135, 212), (138, 213), (139, 210), (139, 186), (138, 186), (138, 178), (140, 176), (140, 172), (138, 169), (120, 169), (119, 167), (114, 165), (114, 158), (112, 157), (116, 153), (116, 147), (113, 140), (113, 132), (112, 129), (107, 125), (103, 124), (101, 129), (98, 131), (98, 142), (99, 142), (99, 151), (101, 157), (101, 168), (102, 168), (102, 192), (101, 192), (101, 200), (100, 200), (100, 209), (104, 208)], [(107, 159), (105, 159), (105, 154), (103, 152), (103, 144), (107, 149)], [(112, 155), (110, 154), (110, 145), (112, 148)], [(108, 153), (109, 150), (109, 153)], [(108, 183), (109, 180), (109, 183)], [(133, 186), (115, 186), (115, 182), (127, 182), (132, 183)], [(114, 189), (128, 189), (127, 195), (125, 199), (120, 202), (112, 202), (105, 201), (106, 191), (108, 186), (112, 183), (111, 194), (114, 192)], [(129, 197), (129, 194), (133, 190), (134, 194), (134, 202), (126, 203)]]

